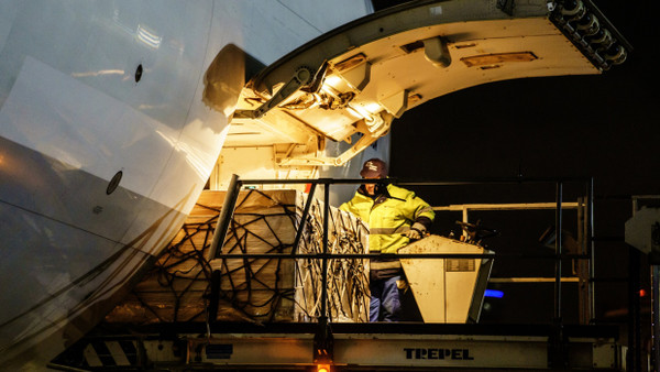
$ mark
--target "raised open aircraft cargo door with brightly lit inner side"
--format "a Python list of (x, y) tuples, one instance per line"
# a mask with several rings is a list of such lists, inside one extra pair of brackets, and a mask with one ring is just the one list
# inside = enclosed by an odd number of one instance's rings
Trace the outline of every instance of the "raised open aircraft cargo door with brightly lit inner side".
[[(389, 8), (319, 36), (254, 76), (242, 90), (224, 153), (255, 151), (224, 163), (235, 167), (267, 146), (265, 167), (287, 169), (287, 177), (292, 169), (344, 165), (385, 135), (394, 118), (436, 97), (505, 79), (601, 74), (623, 63), (628, 50), (587, 1)], [(432, 124), (442, 125), (442, 117)], [(327, 142), (340, 145), (332, 153)]]

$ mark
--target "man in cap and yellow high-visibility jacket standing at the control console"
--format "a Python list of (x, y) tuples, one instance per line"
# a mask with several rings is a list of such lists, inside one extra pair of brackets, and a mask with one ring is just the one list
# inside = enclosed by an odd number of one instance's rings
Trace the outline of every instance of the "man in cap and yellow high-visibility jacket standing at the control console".
[[(363, 178), (387, 177), (380, 158), (364, 163)], [(433, 209), (415, 193), (394, 185), (363, 184), (355, 196), (339, 207), (369, 223), (370, 253), (397, 253), (410, 240), (421, 239), (433, 221)], [(371, 260), (370, 321), (397, 321), (402, 315), (400, 293), (404, 271), (397, 259)]]

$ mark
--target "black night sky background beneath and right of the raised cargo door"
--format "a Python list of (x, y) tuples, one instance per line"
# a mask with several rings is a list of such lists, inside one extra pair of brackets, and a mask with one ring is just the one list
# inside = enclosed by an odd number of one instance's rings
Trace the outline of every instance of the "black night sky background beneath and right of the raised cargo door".
[[(376, 8), (393, 1), (375, 1)], [(392, 129), (391, 175), (400, 180), (481, 177), (593, 177), (595, 276), (628, 277), (624, 223), (630, 195), (660, 194), (658, 64), (660, 33), (650, 0), (594, 1), (634, 46), (628, 59), (597, 76), (518, 79), (477, 86), (407, 111)], [(653, 8), (653, 9), (651, 9)], [(564, 201), (584, 195), (583, 184), (564, 184)], [(548, 185), (409, 187), (431, 205), (554, 201)], [(575, 233), (575, 212), (564, 212), (564, 229)], [(460, 214), (438, 215), (432, 232), (460, 228)], [(480, 212), (484, 226), (501, 231), (486, 241), (502, 253), (551, 253), (538, 238), (554, 225), (554, 211)], [(496, 262), (493, 277), (553, 276), (553, 262)], [(570, 275), (564, 262), (564, 275)], [(648, 263), (637, 273), (648, 291)], [(548, 322), (553, 316), (552, 284), (491, 284), (505, 292), (488, 299), (482, 322)], [(575, 284), (565, 284), (563, 316), (578, 322)], [(596, 321), (625, 324), (627, 284), (596, 285)], [(642, 307), (648, 297), (642, 298)]]

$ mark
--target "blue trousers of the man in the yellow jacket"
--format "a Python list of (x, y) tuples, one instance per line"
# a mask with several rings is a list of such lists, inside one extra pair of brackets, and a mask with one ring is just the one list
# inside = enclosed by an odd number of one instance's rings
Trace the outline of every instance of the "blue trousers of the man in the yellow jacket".
[(369, 321), (398, 321), (402, 313), (402, 302), (396, 282), (400, 280), (402, 276), (397, 275), (370, 283), (369, 288), (372, 297)]

